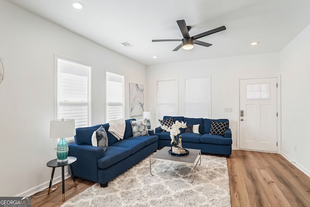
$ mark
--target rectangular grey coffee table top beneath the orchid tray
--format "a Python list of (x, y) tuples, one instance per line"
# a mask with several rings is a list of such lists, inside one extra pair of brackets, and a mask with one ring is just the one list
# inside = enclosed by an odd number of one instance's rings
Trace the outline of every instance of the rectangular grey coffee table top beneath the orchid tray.
[(169, 154), (169, 150), (171, 149), (170, 146), (165, 146), (158, 152), (156, 152), (151, 159), (162, 159), (162, 160), (170, 160), (173, 162), (180, 162), (180, 163), (188, 163), (193, 164), (195, 163), (195, 160), (198, 158), (198, 156), (201, 153), (200, 149), (187, 149), (189, 151), (189, 154), (186, 156), (173, 156)]

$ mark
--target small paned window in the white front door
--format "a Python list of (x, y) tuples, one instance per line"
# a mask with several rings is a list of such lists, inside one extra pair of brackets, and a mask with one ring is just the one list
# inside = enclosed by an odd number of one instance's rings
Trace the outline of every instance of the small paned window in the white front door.
[(247, 99), (270, 99), (270, 84), (262, 83), (262, 84), (247, 84)]

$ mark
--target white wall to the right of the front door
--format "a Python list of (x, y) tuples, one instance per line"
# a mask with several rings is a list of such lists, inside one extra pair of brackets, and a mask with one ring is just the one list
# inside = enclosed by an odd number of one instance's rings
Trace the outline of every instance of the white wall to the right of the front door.
[(280, 52), (282, 155), (310, 176), (310, 26)]

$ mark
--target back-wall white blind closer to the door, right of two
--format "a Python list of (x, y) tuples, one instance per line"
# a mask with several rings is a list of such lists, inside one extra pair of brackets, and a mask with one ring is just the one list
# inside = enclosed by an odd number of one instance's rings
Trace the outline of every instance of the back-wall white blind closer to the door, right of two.
[(210, 95), (210, 77), (185, 79), (185, 116), (210, 118)]

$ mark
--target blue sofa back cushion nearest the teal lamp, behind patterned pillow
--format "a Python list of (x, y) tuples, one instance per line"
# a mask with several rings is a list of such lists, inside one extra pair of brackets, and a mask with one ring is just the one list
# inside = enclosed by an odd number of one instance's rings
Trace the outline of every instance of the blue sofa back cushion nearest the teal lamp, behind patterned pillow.
[(101, 127), (101, 125), (76, 128), (76, 135), (74, 136), (75, 142), (78, 145), (81, 144), (92, 145), (93, 132), (97, 130), (99, 127)]

